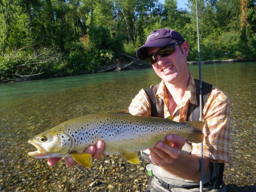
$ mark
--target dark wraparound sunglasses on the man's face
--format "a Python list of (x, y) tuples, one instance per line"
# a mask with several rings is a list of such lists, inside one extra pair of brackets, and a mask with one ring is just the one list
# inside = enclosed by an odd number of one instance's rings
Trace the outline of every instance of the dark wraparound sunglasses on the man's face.
[(154, 64), (157, 61), (157, 55), (160, 55), (160, 57), (167, 57), (169, 55), (171, 55), (172, 53), (174, 53), (176, 51), (176, 44), (180, 44), (183, 42), (175, 42), (172, 44), (169, 44), (163, 48), (161, 48), (158, 52), (153, 53), (151, 55), (148, 55), (147, 60), (150, 64)]

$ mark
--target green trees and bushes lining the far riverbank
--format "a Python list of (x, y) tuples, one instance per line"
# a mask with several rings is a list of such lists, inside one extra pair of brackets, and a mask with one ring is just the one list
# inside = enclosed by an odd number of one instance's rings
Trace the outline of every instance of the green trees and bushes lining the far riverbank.
[[(256, 58), (255, 1), (198, 0), (203, 60)], [(135, 56), (148, 34), (179, 31), (197, 52), (196, 4), (177, 0), (2, 0), (1, 79), (94, 72)]]

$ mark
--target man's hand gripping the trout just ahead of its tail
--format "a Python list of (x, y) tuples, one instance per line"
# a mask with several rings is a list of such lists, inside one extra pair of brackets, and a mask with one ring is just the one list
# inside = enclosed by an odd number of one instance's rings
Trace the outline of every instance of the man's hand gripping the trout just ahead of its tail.
[(172, 146), (158, 141), (155, 147), (149, 149), (149, 158), (155, 165), (171, 164), (179, 159), (180, 151), (186, 142), (184, 137), (175, 134), (167, 135), (166, 140), (172, 142)]

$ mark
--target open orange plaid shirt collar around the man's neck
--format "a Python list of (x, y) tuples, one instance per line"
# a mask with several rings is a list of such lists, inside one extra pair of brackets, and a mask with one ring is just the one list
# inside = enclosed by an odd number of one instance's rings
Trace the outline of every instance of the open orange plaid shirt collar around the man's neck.
[[(159, 84), (159, 87), (158, 87), (157, 92), (156, 92), (156, 97), (161, 98), (163, 100), (166, 100), (166, 98), (168, 98), (167, 92), (166, 92), (166, 87), (165, 87), (165, 84), (164, 84), (164, 80), (162, 80), (161, 83)], [(196, 83), (195, 83), (195, 80), (194, 80), (193, 76), (190, 73), (189, 73), (188, 87), (185, 91), (185, 94), (184, 94), (180, 104), (183, 105), (182, 103), (186, 103), (187, 100), (190, 100), (191, 104), (197, 105)]]

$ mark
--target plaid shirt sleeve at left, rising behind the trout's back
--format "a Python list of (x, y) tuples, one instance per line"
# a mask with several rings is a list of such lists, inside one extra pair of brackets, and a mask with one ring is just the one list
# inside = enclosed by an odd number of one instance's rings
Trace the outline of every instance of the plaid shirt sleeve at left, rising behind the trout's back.
[(151, 116), (150, 102), (144, 89), (135, 96), (128, 109), (132, 115)]

